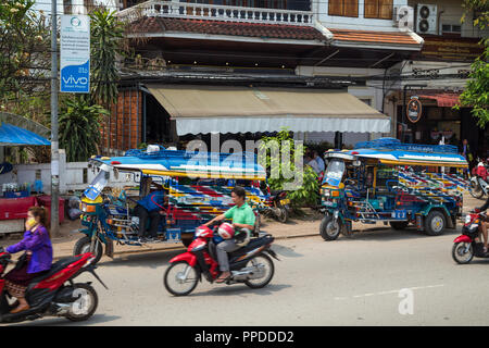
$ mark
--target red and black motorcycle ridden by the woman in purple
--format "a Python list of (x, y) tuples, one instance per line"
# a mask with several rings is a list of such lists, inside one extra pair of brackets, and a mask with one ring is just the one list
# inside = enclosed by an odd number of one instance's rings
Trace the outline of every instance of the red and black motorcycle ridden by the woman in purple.
[[(11, 254), (0, 247), (0, 323), (18, 323), (33, 321), (43, 316), (64, 316), (73, 322), (89, 319), (98, 306), (98, 296), (91, 282), (74, 283), (73, 279), (85, 272), (93, 276), (106, 288), (95, 273), (96, 256), (91, 252), (64, 258), (52, 264), (46, 273), (34, 278), (26, 290), (25, 298), (30, 308), (11, 314), (18, 303), (4, 289), (4, 271)], [(13, 302), (13, 303), (12, 303)]]

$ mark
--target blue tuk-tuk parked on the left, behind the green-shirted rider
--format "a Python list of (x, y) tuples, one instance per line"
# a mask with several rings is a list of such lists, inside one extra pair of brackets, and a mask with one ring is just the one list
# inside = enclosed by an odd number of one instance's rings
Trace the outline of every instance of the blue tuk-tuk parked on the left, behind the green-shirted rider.
[[(76, 243), (73, 252), (91, 251), (97, 261), (103, 253), (102, 245), (105, 245), (105, 253), (113, 256), (114, 240), (127, 246), (155, 243), (189, 246), (196, 227), (234, 204), (230, 191), (236, 185), (244, 188), (247, 201), (255, 214), (266, 201), (260, 189), (260, 182), (266, 179), (266, 174), (253, 153), (193, 152), (152, 146), (146, 150), (128, 150), (124, 157), (92, 157), (88, 165), (98, 174), (82, 197), (84, 228), (78, 232), (85, 236)], [(128, 182), (139, 185), (125, 187), (115, 197), (109, 191), (111, 174), (115, 178), (126, 175)], [(152, 181), (148, 181), (149, 177)], [(158, 237), (141, 241), (134, 208), (139, 199), (161, 189), (165, 201), (160, 206), (162, 219)], [(256, 224), (254, 234), (259, 228)]]

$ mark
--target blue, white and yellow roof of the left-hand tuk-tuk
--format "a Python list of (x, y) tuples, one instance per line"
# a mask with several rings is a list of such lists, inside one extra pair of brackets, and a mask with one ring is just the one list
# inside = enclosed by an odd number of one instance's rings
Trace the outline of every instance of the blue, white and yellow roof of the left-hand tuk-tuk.
[(223, 153), (203, 151), (133, 149), (123, 157), (93, 157), (92, 163), (106, 164), (123, 172), (147, 175), (195, 176), (208, 178), (236, 178), (264, 181), (266, 173), (250, 152)]

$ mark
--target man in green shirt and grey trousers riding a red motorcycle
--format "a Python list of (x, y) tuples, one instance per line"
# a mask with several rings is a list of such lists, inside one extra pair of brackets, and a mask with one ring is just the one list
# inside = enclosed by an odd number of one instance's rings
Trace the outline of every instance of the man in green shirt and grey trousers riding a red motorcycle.
[[(223, 221), (224, 219), (231, 219), (233, 227), (235, 231), (237, 228), (240, 229), (249, 229), (250, 232), (254, 228), (255, 216), (253, 210), (250, 206), (244, 201), (246, 191), (242, 187), (236, 186), (231, 190), (233, 202), (236, 204), (224, 214), (215, 216), (210, 222), (204, 225), (211, 225), (214, 222)], [(229, 277), (229, 260), (227, 258), (228, 252), (233, 252), (238, 250), (240, 246), (236, 244), (234, 238), (224, 240), (220, 243), (216, 247), (217, 253), (217, 262), (220, 263), (221, 276), (216, 279), (216, 283), (223, 283), (227, 277)]]

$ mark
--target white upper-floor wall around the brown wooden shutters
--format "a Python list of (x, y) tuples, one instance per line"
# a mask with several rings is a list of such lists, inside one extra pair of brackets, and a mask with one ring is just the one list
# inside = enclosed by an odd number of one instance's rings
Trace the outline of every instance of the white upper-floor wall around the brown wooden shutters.
[[(373, 20), (364, 17), (364, 0), (359, 0), (359, 16), (344, 17), (338, 15), (329, 15), (329, 0), (313, 0), (313, 10), (317, 13), (317, 20), (327, 28), (336, 29), (356, 29), (356, 30), (378, 30), (378, 32), (396, 32), (392, 20)], [(405, 5), (408, 0), (393, 0), (394, 7)]]

